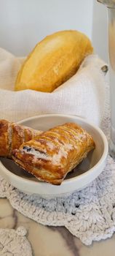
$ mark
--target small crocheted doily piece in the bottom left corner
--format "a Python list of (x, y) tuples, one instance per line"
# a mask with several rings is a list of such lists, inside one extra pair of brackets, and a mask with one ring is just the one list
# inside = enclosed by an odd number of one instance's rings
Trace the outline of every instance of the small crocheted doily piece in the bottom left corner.
[(0, 229), (0, 255), (32, 256), (31, 245), (25, 235), (25, 227), (18, 227), (17, 230)]

